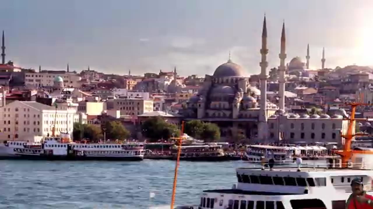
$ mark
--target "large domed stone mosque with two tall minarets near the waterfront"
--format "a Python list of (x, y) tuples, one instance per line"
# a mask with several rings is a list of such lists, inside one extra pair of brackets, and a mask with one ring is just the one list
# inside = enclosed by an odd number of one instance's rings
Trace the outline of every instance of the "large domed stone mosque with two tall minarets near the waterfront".
[[(185, 120), (199, 119), (219, 125), (222, 138), (232, 136), (238, 128), (250, 140), (256, 142), (342, 142), (341, 133), (347, 131), (348, 121), (342, 110), (333, 116), (298, 115), (285, 112), (285, 73), (287, 70), (303, 69), (304, 63), (294, 58), (285, 66), (285, 24), (282, 27), (279, 54), (279, 105), (267, 101), (267, 26), (263, 21), (261, 37), (260, 90), (248, 83), (244, 69), (232, 62), (220, 65), (213, 75), (205, 75), (198, 94), (187, 102), (180, 113)], [(324, 54), (324, 53), (323, 53)], [(309, 49), (307, 49), (309, 67)], [(325, 59), (323, 57), (323, 62)], [(294, 68), (292, 68), (294, 67)], [(259, 91), (259, 93), (257, 93)], [(255, 95), (260, 95), (255, 97)]]

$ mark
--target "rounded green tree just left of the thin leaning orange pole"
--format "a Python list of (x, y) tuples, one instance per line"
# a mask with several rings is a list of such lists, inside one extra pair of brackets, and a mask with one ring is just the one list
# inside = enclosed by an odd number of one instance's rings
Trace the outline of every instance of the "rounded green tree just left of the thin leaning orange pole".
[(141, 125), (141, 132), (151, 142), (156, 142), (159, 139), (168, 140), (180, 135), (176, 125), (167, 123), (161, 117), (151, 117), (145, 120)]

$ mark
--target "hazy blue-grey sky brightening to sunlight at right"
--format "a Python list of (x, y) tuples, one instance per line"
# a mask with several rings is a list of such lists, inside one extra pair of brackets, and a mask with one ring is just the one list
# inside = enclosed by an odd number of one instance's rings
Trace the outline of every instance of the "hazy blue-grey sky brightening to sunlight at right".
[(263, 16), (269, 68), (286, 54), (310, 68), (373, 65), (371, 0), (0, 0), (6, 59), (19, 67), (141, 75), (213, 74), (231, 52), (247, 75), (260, 72)]

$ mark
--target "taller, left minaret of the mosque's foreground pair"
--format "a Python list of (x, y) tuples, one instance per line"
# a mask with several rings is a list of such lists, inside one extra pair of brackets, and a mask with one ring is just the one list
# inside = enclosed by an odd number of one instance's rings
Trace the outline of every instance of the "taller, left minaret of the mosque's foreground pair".
[(266, 142), (268, 135), (267, 124), (267, 22), (266, 16), (263, 21), (263, 32), (261, 33), (261, 61), (260, 61), (260, 110), (259, 110), (259, 124), (258, 124), (258, 137), (259, 140)]

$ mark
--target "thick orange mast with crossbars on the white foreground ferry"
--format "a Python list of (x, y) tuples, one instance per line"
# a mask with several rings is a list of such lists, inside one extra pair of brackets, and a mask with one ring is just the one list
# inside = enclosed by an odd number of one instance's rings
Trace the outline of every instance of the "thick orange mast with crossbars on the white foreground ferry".
[[(350, 123), (348, 124), (347, 133), (341, 135), (345, 139), (345, 144), (342, 150), (336, 151), (336, 154), (341, 155), (342, 157), (342, 167), (346, 168), (348, 166), (348, 161), (352, 157), (353, 154), (373, 154), (373, 151), (365, 151), (365, 150), (351, 150), (351, 143), (352, 139), (355, 136), (367, 136), (368, 134), (364, 133), (355, 133), (352, 134), (354, 131), (354, 122), (357, 120), (366, 120), (366, 119), (355, 119), (355, 112), (357, 106), (368, 106), (371, 105), (370, 103), (361, 103), (361, 102), (351, 102), (346, 103), (346, 105), (351, 106), (351, 116), (348, 119)], [(355, 124), (356, 125), (356, 124)]]

